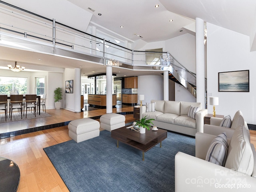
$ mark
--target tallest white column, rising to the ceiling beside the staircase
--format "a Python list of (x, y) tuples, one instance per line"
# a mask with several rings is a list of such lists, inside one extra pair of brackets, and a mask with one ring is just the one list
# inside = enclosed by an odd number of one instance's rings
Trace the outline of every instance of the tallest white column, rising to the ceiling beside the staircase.
[(204, 20), (196, 18), (196, 102), (205, 109)]

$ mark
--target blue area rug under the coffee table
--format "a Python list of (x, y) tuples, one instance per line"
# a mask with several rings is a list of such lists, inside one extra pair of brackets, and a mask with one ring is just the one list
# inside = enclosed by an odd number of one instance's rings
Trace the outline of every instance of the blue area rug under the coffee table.
[(100, 136), (76, 143), (70, 140), (44, 148), (70, 192), (174, 192), (174, 156), (195, 155), (195, 139), (168, 132), (160, 144), (142, 152)]

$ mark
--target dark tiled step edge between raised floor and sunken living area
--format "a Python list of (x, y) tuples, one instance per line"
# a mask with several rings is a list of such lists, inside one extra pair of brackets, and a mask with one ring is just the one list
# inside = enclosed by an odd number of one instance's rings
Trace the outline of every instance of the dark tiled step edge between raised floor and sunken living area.
[[(126, 114), (133, 114), (133, 112), (120, 112), (118, 114), (126, 115)], [(100, 116), (94, 116), (94, 117), (90, 117), (90, 118), (99, 119)], [(40, 126), (40, 127), (28, 128), (28, 129), (24, 129), (24, 130), (1, 133), (0, 134), (0, 139), (14, 137), (14, 136), (23, 135), (23, 134), (27, 134), (27, 133), (32, 133), (32, 132), (36, 132), (36, 131), (52, 129), (52, 128), (56, 128), (56, 127), (67, 126), (69, 124), (69, 122), (70, 121), (66, 121), (66, 122), (62, 122), (62, 123), (56, 123), (56, 124), (45, 125), (45, 126)]]

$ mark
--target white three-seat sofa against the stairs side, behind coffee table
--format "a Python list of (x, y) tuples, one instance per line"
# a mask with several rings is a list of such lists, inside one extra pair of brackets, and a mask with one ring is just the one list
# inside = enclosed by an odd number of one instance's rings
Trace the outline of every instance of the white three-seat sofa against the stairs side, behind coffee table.
[[(158, 128), (195, 136), (196, 132), (203, 132), (204, 116), (207, 114), (206, 109), (202, 109), (201, 103), (196, 102), (180, 102), (180, 101), (165, 101), (151, 100), (147, 103), (149, 112), (146, 112), (147, 107), (140, 107), (140, 119), (154, 119), (152, 122)], [(194, 118), (188, 116), (190, 106), (199, 107)], [(190, 115), (191, 116), (191, 115)]]

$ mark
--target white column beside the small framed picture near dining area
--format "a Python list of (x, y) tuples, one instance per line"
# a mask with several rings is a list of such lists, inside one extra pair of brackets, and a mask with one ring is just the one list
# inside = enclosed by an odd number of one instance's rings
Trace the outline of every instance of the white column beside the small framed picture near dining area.
[(75, 68), (75, 78), (73, 82), (75, 113), (81, 112), (81, 69)]

